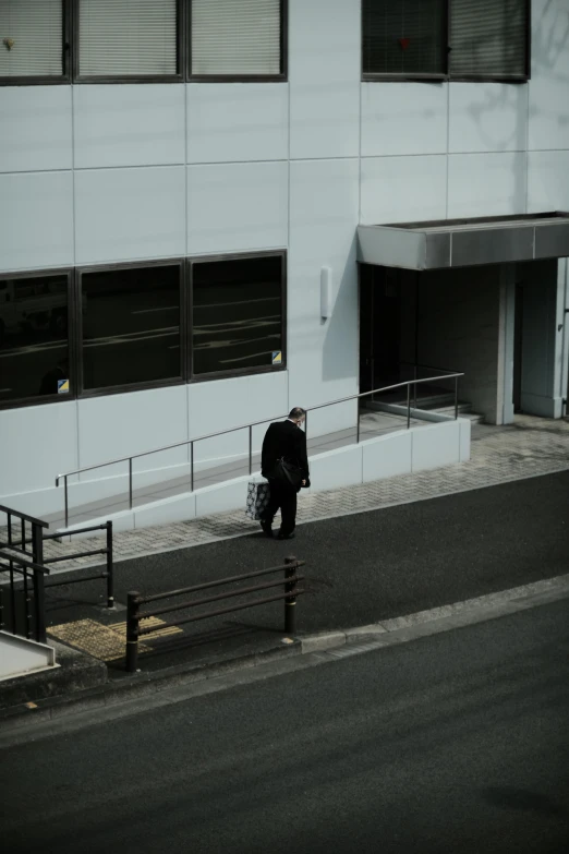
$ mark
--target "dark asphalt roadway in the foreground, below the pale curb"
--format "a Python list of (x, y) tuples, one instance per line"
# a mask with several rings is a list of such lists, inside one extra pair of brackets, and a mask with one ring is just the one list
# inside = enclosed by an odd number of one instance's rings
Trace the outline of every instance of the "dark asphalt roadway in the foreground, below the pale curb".
[(569, 600), (0, 751), (2, 849), (561, 854)]

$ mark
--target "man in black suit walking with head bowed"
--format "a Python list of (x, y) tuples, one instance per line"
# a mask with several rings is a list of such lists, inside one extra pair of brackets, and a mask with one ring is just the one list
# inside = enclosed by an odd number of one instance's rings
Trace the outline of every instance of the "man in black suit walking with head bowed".
[[(273, 537), (273, 519), (280, 507), (281, 522), (277, 534), (279, 540), (291, 540), (296, 524), (296, 494), (301, 486), (311, 485), (308, 471), (308, 457), (306, 454), (306, 434), (301, 430), (306, 412), (301, 407), (290, 411), (286, 421), (276, 421), (270, 424), (263, 441), (261, 453), (261, 473), (270, 484), (270, 500), (261, 519), (261, 527)], [(302, 472), (301, 486), (294, 488), (276, 480), (273, 477), (275, 466), (279, 459), (296, 466)]]

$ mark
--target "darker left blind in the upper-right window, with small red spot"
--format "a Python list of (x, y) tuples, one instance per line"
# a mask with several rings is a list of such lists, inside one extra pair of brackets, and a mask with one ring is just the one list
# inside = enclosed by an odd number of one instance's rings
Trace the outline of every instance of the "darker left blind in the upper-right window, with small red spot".
[(364, 0), (364, 73), (444, 74), (446, 43), (446, 0)]

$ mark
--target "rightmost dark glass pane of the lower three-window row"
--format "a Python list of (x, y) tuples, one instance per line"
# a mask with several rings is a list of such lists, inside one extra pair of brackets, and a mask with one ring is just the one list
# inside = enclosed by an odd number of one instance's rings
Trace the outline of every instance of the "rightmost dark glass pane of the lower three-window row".
[(284, 364), (283, 255), (192, 264), (192, 373)]

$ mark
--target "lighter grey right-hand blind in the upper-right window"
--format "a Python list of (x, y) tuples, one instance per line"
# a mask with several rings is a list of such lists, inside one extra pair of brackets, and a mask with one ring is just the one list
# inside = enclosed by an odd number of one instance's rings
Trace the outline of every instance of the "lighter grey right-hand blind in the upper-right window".
[(450, 73), (524, 76), (526, 0), (452, 0)]

